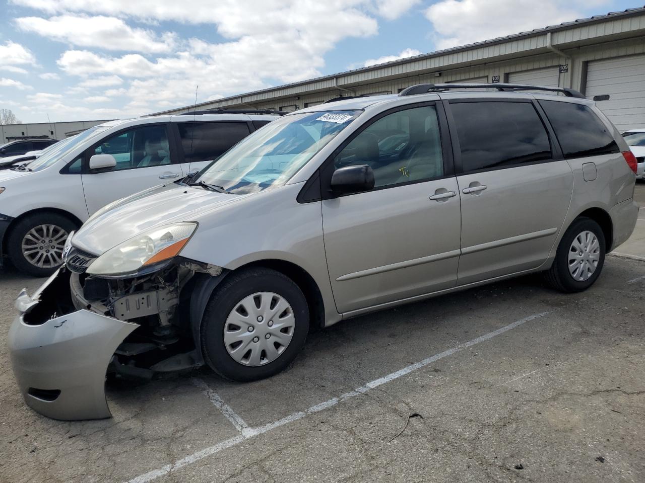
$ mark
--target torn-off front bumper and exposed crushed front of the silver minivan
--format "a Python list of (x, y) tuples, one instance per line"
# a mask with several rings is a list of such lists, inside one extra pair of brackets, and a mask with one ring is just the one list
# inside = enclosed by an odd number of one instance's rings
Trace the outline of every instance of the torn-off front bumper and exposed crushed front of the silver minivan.
[(151, 379), (201, 365), (195, 337), (220, 274), (180, 258), (114, 279), (68, 263), (34, 296), (23, 290), (8, 343), (26, 403), (53, 419), (101, 419), (110, 417), (106, 377)]

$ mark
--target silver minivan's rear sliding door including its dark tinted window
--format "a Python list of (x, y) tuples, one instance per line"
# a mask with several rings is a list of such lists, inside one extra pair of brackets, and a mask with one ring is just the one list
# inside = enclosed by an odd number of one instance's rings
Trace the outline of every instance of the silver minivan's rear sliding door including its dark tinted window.
[(573, 193), (573, 173), (541, 108), (530, 99), (445, 104), (461, 196), (457, 285), (539, 267)]

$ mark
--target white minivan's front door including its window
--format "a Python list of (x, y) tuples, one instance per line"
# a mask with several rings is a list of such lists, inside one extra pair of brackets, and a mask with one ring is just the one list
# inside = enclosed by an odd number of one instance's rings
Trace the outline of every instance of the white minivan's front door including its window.
[[(81, 175), (88, 213), (91, 215), (119, 198), (183, 177), (186, 173), (175, 161), (171, 142), (165, 123), (146, 124), (124, 129), (90, 147), (85, 152)], [(117, 165), (92, 171), (89, 160), (95, 154), (112, 155)]]

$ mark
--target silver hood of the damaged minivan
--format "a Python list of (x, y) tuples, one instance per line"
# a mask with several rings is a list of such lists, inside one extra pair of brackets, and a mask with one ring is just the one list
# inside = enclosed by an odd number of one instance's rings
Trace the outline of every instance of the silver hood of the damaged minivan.
[(180, 184), (157, 186), (97, 211), (74, 235), (72, 244), (101, 255), (153, 227), (175, 222), (199, 223), (206, 214), (248, 196), (252, 195), (215, 193)]

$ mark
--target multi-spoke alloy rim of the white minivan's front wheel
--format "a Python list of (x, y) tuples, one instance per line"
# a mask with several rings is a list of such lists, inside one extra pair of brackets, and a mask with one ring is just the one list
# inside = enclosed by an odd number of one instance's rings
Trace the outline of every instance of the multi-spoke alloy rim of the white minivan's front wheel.
[(38, 225), (23, 238), (26, 260), (41, 269), (52, 269), (63, 263), (63, 248), (68, 232), (57, 225)]

